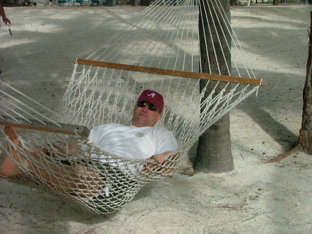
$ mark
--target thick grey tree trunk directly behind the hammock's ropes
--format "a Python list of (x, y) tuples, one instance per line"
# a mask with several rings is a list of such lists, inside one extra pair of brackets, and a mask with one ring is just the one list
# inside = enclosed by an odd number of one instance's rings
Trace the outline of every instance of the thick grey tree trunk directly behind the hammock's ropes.
[[(223, 5), (225, 10), (225, 14), (227, 17), (230, 17), (229, 14), (229, 1), (220, 0), (220, 3)], [(220, 24), (216, 23), (216, 30), (214, 28), (212, 18), (214, 18), (214, 22), (218, 22), (216, 20), (216, 12), (211, 11), (211, 14), (207, 14), (207, 18), (204, 16), (203, 12), (209, 12), (208, 6), (206, 4), (211, 4), (211, 1), (207, 3), (207, 1), (202, 1), (200, 4), (201, 12), (199, 19), (199, 33), (200, 33), (200, 55), (201, 55), (201, 65), (203, 73), (210, 74), (222, 74), (229, 75), (227, 72), (227, 67), (225, 65), (225, 60), (227, 60), (227, 64), (230, 65), (231, 61), (231, 53), (226, 46), (225, 38), (222, 36), (220, 32), (220, 28), (225, 30), (225, 22), (221, 22)], [(206, 8), (206, 10), (204, 10)], [(221, 19), (221, 17), (219, 17)], [(211, 35), (209, 35), (208, 24), (210, 27)], [(216, 39), (219, 33), (220, 43)], [(205, 35), (207, 41), (207, 49), (205, 46)], [(211, 39), (212, 37), (212, 39)], [(227, 35), (227, 41), (230, 42), (230, 35)], [(223, 52), (225, 53), (225, 58), (222, 54), (221, 47), (223, 48)], [(216, 49), (216, 56), (214, 56), (214, 49)], [(210, 69), (208, 62), (210, 63)], [(217, 64), (220, 66), (220, 72), (218, 70)], [(211, 89), (216, 85), (216, 82), (210, 82), (210, 85), (207, 87), (206, 95), (209, 95)], [(200, 81), (200, 89), (202, 90), (205, 87), (206, 81)], [(220, 92), (220, 90), (225, 87), (224, 85), (218, 85), (218, 88), (215, 90), (216, 94)], [(197, 172), (227, 172), (234, 168), (233, 158), (232, 158), (232, 150), (231, 150), (231, 142), (229, 135), (229, 114), (222, 117), (218, 122), (216, 122), (213, 126), (211, 126), (199, 139), (198, 149), (196, 155), (196, 161), (194, 164), (194, 169)]]

